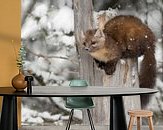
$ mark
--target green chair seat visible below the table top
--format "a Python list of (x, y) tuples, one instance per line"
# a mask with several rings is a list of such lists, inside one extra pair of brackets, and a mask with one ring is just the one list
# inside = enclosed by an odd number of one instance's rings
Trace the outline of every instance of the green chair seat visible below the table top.
[(67, 97), (65, 107), (71, 109), (89, 109), (94, 108), (91, 97)]

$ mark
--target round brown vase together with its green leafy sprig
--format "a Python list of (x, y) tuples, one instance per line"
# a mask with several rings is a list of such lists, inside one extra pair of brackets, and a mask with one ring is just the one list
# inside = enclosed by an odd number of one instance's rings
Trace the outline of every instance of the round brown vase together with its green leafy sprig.
[[(15, 48), (14, 48), (15, 51)], [(16, 53), (15, 53), (16, 54)], [(24, 91), (27, 87), (27, 82), (25, 81), (25, 76), (23, 74), (23, 64), (25, 59), (25, 50), (22, 46), (19, 49), (18, 57), (16, 56), (17, 67), (19, 69), (19, 73), (13, 77), (12, 86), (16, 89), (16, 91)]]

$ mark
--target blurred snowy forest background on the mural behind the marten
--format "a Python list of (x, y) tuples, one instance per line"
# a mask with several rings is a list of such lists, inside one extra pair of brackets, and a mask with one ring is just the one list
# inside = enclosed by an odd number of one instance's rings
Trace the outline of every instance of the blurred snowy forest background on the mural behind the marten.
[[(71, 0), (21, 0), (22, 44), (26, 50), (24, 72), (32, 74), (33, 85), (68, 85), (79, 77), (79, 62), (74, 37), (74, 12)], [(163, 1), (93, 0), (95, 18), (107, 10), (112, 16), (135, 15), (153, 30), (157, 38), (157, 82), (159, 93), (151, 100), (155, 125), (163, 125)], [(69, 109), (63, 98), (23, 98), (23, 125), (63, 125)], [(74, 123), (82, 122), (81, 111)]]

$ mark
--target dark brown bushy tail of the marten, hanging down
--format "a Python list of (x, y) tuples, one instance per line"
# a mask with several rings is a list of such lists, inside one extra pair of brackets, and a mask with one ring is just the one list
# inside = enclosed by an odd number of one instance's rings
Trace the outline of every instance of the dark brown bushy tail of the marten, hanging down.
[[(156, 59), (154, 55), (154, 47), (146, 48), (144, 52), (144, 59), (141, 63), (140, 69), (140, 88), (153, 88), (156, 79)], [(149, 103), (150, 95), (141, 96), (141, 106), (145, 106)]]

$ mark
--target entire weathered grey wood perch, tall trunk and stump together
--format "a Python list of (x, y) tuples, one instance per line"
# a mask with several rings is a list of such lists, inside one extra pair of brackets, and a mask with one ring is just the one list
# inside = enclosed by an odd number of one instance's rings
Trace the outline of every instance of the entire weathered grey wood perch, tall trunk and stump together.
[[(74, 0), (75, 38), (80, 62), (81, 79), (85, 79), (90, 85), (104, 85), (106, 87), (138, 87), (137, 61), (136, 59), (125, 60), (123, 64), (117, 64), (116, 72), (107, 76), (103, 71), (97, 69), (93, 59), (81, 48), (82, 32), (93, 28), (92, 1)], [(96, 124), (109, 124), (109, 98), (94, 98), (95, 108), (93, 119)], [(139, 97), (125, 98), (126, 110), (139, 108)], [(86, 114), (83, 115), (84, 123), (88, 122)]]

